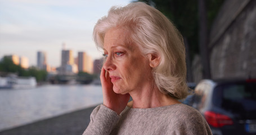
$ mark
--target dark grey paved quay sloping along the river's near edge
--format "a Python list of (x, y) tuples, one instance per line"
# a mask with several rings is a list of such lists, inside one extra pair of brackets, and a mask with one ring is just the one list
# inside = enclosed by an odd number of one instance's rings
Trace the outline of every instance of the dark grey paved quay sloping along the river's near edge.
[(90, 114), (95, 107), (8, 129), (0, 132), (0, 135), (81, 135), (89, 124)]

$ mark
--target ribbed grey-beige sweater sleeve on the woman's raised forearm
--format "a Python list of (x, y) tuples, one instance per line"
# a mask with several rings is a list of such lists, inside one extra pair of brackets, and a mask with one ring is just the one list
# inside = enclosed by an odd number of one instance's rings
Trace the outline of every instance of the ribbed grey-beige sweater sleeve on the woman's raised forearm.
[(104, 105), (99, 105), (92, 111), (90, 116), (91, 122), (83, 135), (110, 134), (119, 118), (120, 116), (115, 111)]

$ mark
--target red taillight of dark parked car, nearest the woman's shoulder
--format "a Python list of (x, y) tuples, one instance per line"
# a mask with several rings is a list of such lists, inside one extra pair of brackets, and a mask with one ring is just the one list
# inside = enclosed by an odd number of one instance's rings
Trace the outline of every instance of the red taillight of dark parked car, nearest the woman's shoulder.
[(232, 125), (233, 121), (230, 117), (223, 114), (214, 113), (213, 111), (206, 111), (204, 113), (205, 119), (209, 125), (220, 128), (224, 125)]

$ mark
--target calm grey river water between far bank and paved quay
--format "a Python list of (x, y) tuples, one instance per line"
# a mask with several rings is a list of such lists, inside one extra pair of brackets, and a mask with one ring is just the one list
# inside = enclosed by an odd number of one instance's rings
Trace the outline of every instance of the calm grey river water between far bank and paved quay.
[(101, 86), (45, 85), (0, 89), (0, 131), (101, 104)]

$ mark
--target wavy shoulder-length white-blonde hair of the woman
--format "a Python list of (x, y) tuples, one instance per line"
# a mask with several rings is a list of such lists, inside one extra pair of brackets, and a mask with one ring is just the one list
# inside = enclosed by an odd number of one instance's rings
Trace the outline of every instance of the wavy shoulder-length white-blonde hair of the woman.
[(183, 38), (163, 13), (142, 2), (111, 7), (108, 15), (98, 20), (93, 29), (98, 48), (103, 48), (106, 31), (115, 27), (127, 28), (129, 39), (144, 55), (155, 53), (160, 56), (160, 64), (152, 70), (152, 75), (161, 92), (176, 99), (189, 95)]

